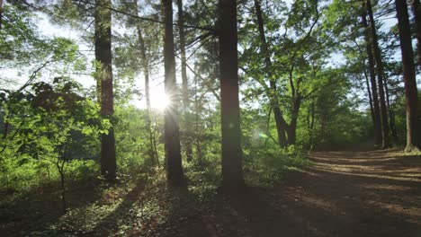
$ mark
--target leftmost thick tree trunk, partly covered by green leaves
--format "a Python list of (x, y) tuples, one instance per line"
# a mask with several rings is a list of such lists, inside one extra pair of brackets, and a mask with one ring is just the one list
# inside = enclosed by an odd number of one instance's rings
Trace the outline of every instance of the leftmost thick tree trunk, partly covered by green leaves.
[(95, 2), (96, 80), (101, 86), (101, 115), (110, 119), (112, 127), (101, 139), (101, 173), (108, 181), (116, 177), (115, 138), (113, 129), (114, 96), (112, 92), (112, 15), (110, 0)]

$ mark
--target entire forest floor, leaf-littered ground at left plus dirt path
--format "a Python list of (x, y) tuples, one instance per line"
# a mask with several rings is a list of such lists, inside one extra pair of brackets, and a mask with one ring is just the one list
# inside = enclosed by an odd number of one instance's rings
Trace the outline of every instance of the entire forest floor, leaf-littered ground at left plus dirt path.
[(85, 193), (87, 207), (78, 207), (83, 206), (79, 190), (78, 199), (69, 198), (78, 206), (70, 203), (67, 215), (59, 210), (51, 215), (45, 209), (54, 206), (51, 202), (41, 211), (49, 218), (39, 214), (24, 221), (27, 213), (10, 211), (2, 220), (0, 214), (0, 235), (421, 236), (419, 156), (394, 150), (313, 152), (309, 159), (304, 171), (292, 172), (275, 187), (249, 187), (233, 196), (214, 193), (204, 200), (190, 189), (171, 191), (139, 181), (96, 193), (95, 200)]

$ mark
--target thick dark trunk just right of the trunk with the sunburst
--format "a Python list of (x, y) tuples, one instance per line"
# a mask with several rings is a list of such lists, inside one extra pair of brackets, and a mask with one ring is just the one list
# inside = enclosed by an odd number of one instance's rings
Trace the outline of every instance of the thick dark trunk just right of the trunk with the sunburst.
[(238, 100), (237, 1), (219, 0), (219, 71), (222, 132), (222, 187), (245, 186)]

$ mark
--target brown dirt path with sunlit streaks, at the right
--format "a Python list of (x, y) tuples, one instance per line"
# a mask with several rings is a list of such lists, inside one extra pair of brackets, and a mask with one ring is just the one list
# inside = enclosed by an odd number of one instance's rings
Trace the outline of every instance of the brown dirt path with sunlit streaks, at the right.
[[(275, 189), (180, 223), (179, 236), (421, 236), (421, 158), (323, 152)], [(228, 205), (227, 205), (228, 204)]]

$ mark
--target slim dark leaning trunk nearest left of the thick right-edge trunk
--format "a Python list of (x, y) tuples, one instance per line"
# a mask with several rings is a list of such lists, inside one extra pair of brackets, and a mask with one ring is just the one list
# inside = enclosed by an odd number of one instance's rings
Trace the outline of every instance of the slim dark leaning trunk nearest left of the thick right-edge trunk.
[(372, 15), (372, 3), (371, 0), (366, 1), (367, 11), (370, 19), (370, 42), (374, 52), (374, 60), (376, 63), (378, 83), (379, 83), (379, 94), (380, 94), (380, 112), (381, 112), (381, 148), (385, 149), (390, 147), (390, 136), (389, 136), (389, 124), (388, 124), (388, 111), (386, 107), (386, 99), (383, 85), (383, 63), (381, 60), (381, 49), (379, 48), (379, 42), (377, 40), (376, 24)]

